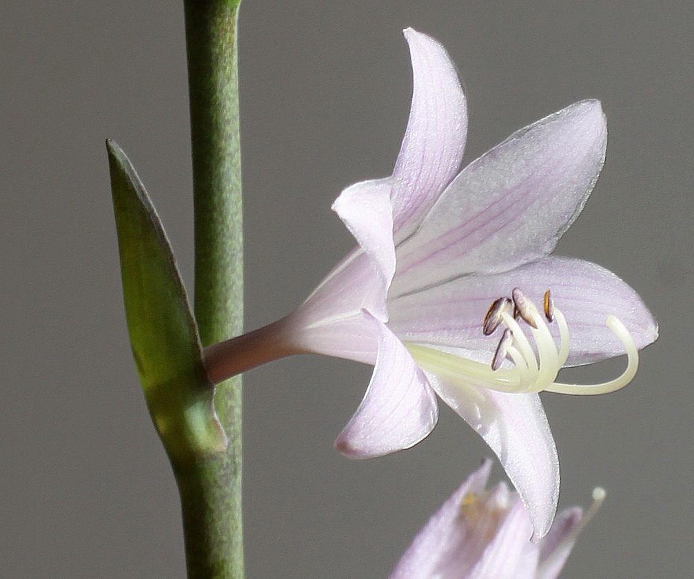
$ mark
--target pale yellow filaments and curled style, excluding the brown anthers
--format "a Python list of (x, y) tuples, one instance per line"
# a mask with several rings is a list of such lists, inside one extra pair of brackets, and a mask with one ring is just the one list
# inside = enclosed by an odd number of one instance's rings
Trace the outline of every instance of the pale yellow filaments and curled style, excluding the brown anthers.
[[(548, 328), (545, 318), (533, 304), (528, 306), (528, 315), (536, 328), (530, 326), (534, 340), (533, 349), (523, 329), (507, 312), (501, 314), (501, 325), (511, 331), (511, 344), (505, 355), (513, 362), (513, 368), (492, 370), (489, 365), (468, 360), (455, 354), (441, 352), (432, 347), (406, 343), (407, 349), (423, 368), (439, 374), (444, 379), (462, 381), (498, 392), (559, 392), (561, 394), (595, 395), (613, 392), (626, 386), (636, 374), (638, 368), (638, 350), (634, 338), (622, 322), (615, 316), (609, 316), (607, 327), (623, 343), (627, 352), (626, 370), (613, 380), (598, 384), (565, 384), (555, 382), (559, 370), (566, 363), (569, 353), (570, 335), (566, 318), (557, 308), (554, 319), (559, 327), (559, 347)], [(535, 354), (535, 350), (537, 354)]]

